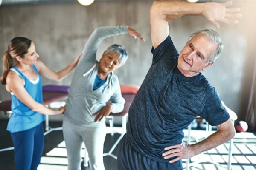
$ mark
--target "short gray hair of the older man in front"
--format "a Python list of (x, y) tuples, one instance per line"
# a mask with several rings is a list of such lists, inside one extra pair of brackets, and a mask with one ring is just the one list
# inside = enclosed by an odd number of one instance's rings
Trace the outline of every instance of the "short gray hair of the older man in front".
[(197, 34), (203, 34), (204, 36), (206, 36), (207, 38), (209, 38), (209, 40), (211, 40), (212, 42), (215, 42), (218, 46), (216, 48), (216, 50), (212, 53), (212, 55), (209, 57), (207, 62), (215, 62), (216, 59), (220, 56), (221, 51), (224, 47), (224, 45), (221, 42), (221, 37), (220, 35), (212, 30), (212, 29), (203, 29), (203, 30), (198, 30), (195, 31), (194, 33), (191, 34), (188, 42), (195, 37)]

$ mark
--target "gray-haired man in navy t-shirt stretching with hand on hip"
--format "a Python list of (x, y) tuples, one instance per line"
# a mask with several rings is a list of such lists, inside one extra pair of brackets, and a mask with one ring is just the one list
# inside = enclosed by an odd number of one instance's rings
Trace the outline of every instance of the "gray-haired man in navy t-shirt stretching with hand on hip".
[[(169, 20), (183, 15), (205, 17), (217, 28), (234, 24), (239, 8), (227, 3), (154, 1), (150, 10), (152, 64), (129, 109), (127, 133), (118, 155), (119, 170), (181, 170), (181, 159), (216, 147), (235, 135), (215, 88), (201, 74), (221, 54), (223, 44), (212, 29), (196, 31), (177, 52)], [(184, 144), (183, 129), (197, 116), (217, 131), (196, 144)]]

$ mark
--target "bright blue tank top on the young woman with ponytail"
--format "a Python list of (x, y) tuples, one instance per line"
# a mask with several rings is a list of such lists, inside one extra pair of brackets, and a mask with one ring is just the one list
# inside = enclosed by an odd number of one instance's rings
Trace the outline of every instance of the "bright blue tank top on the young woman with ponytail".
[[(29, 80), (19, 69), (12, 67), (11, 70), (15, 71), (24, 80), (24, 88), (32, 96), (32, 98), (43, 104), (42, 92), (42, 79), (38, 74), (35, 65), (32, 65), (38, 78), (35, 81)], [(11, 93), (12, 94), (12, 93)], [(11, 133), (31, 129), (44, 121), (44, 115), (32, 111), (29, 107), (24, 105), (17, 97), (12, 94), (12, 116), (9, 119), (7, 130)]]

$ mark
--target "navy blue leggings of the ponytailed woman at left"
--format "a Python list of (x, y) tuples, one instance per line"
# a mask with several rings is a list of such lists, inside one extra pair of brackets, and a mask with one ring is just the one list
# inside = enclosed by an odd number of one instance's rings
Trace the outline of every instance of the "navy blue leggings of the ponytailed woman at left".
[(37, 170), (44, 148), (43, 125), (11, 133), (15, 170)]

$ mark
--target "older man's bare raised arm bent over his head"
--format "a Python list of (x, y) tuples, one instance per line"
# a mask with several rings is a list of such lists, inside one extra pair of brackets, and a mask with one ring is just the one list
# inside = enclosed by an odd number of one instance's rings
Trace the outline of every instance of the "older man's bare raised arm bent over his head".
[(226, 8), (227, 3), (189, 3), (185, 0), (157, 0), (150, 9), (151, 41), (154, 48), (169, 35), (168, 21), (183, 15), (201, 15), (219, 28), (219, 22), (234, 24), (241, 17), (239, 8)]

